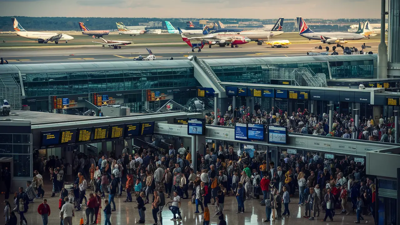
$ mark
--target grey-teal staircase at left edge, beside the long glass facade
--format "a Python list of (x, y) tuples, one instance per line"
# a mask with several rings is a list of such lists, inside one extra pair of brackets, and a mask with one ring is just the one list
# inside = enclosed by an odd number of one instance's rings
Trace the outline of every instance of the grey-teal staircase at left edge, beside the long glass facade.
[(11, 74), (0, 74), (0, 104), (7, 99), (12, 110), (20, 110), (22, 107), (21, 87)]

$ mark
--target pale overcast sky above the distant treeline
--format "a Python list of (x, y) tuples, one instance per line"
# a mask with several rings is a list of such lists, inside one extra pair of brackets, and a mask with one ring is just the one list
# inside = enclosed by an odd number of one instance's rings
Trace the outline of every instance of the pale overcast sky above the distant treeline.
[(0, 6), (1, 16), (380, 18), (380, 0), (0, 0)]

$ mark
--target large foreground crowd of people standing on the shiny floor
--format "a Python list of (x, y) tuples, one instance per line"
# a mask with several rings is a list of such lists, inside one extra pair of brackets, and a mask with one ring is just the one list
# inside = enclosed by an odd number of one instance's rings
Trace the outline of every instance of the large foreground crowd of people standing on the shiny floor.
[[(219, 146), (217, 150), (206, 145), (204, 155), (196, 153), (197, 166), (194, 168), (191, 152), (183, 146), (182, 143), (175, 150), (170, 145), (168, 151), (161, 152), (142, 147), (132, 154), (124, 149), (118, 157), (112, 152), (110, 157), (104, 153), (100, 153), (98, 159), (91, 156), (88, 161), (94, 163), (86, 173), (81, 169), (84, 167), (76, 167), (72, 188), (59, 183), (63, 181), (59, 177), (62, 169), (53, 171), (48, 167), (53, 183), (52, 196), (60, 197), (60, 224), (72, 224), (72, 217), (80, 210), (85, 210), (85, 224), (96, 224), (102, 205), (104, 220), (107, 225), (111, 224), (112, 212), (117, 210), (114, 198), (122, 197), (123, 192), (126, 193), (124, 203), (136, 200), (140, 217), (137, 223), (145, 223), (147, 207), (152, 211), (155, 225), (162, 223), (164, 206), (172, 211), (171, 220), (182, 220), (181, 211), (186, 210), (181, 208), (182, 199), (191, 199), (196, 205), (194, 213), (200, 213), (201, 209), (204, 224), (210, 223), (213, 208), (220, 218), (219, 224), (225, 225), (224, 201), (233, 196), (238, 205), (236, 213), (247, 212), (244, 202), (253, 201), (253, 204), (266, 208), (265, 222), (282, 219), (290, 216), (289, 203), (297, 201), (294, 200), (295, 193), (299, 196), (299, 207), (305, 207), (304, 218), (310, 220), (324, 211), (325, 216), (320, 219), (326, 221), (329, 217), (332, 221), (335, 209), (356, 215), (356, 223), (360, 223), (364, 215), (375, 215), (375, 185), (366, 177), (365, 166), (354, 163), (350, 157), (333, 160), (324, 159), (319, 153), (291, 155), (284, 152), (279, 162), (270, 161), (267, 165), (264, 153), (254, 151), (250, 156), (247, 152), (234, 151), (233, 147), (223, 149)], [(23, 221), (26, 224), (24, 213), (28, 211), (28, 204), (34, 198), (43, 199), (43, 176), (38, 171), (34, 175), (33, 181), (27, 183), (26, 191), (20, 187), (15, 193), (13, 210), (8, 201), (4, 202), (8, 224), (16, 224), (14, 212), (20, 214), (20, 224)], [(30, 188), (34, 190), (33, 194)], [(87, 192), (88, 189), (91, 190)], [(108, 198), (105, 199), (106, 194)], [(46, 199), (42, 201), (38, 213), (46, 225), (50, 207)], [(350, 202), (351, 211), (347, 211)]]

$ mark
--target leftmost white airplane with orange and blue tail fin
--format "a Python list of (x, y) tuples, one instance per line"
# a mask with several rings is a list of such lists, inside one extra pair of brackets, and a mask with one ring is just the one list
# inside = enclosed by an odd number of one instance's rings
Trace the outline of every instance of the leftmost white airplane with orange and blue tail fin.
[(74, 39), (74, 37), (69, 36), (67, 34), (61, 33), (48, 33), (48, 32), (36, 32), (36, 31), (26, 31), (17, 21), (16, 18), (11, 18), (14, 30), (17, 35), (23, 38), (28, 38), (30, 40), (37, 40), (38, 43), (47, 44), (47, 42), (51, 41), (58, 44), (58, 41), (65, 41), (68, 43), (69, 40)]

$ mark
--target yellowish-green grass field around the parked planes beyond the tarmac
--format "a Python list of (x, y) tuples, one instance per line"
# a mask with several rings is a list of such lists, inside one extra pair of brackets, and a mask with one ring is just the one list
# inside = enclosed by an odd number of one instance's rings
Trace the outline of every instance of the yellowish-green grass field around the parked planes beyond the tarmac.
[[(60, 42), (60, 44), (56, 45), (54, 42), (48, 42), (47, 44), (39, 44), (37, 41), (34, 40), (29, 40), (27, 38), (22, 38), (20, 36), (16, 36), (16, 34), (0, 34), (0, 49), (7, 49), (12, 47), (13, 49), (18, 48), (18, 47), (23, 47), (26, 49), (26, 47), (34, 47), (34, 48), (58, 48), (58, 47), (66, 47), (66, 46), (88, 46), (88, 45), (95, 45), (98, 43), (94, 43), (92, 41), (96, 42), (102, 42), (101, 39), (99, 38), (92, 38), (92, 36), (88, 35), (82, 35), (82, 34), (77, 34), (77, 35), (72, 35), (74, 37), (74, 40), (68, 41), (68, 44), (65, 42)], [(200, 35), (189, 35), (190, 36), (200, 36)], [(182, 38), (179, 34), (141, 34), (138, 36), (129, 36), (129, 35), (119, 35), (119, 34), (109, 34), (104, 36), (104, 39), (110, 39), (110, 40), (124, 40), (124, 41), (132, 41), (135, 44), (138, 44), (139, 47), (142, 47), (144, 44), (148, 47), (151, 46), (162, 46), (163, 43), (165, 43), (168, 46), (182, 46), (186, 45), (182, 41)], [(304, 44), (304, 43), (321, 43), (318, 40), (312, 40), (309, 41), (306, 38), (303, 38), (302, 36), (298, 35), (296, 32), (292, 33), (284, 33), (281, 34), (280, 36), (276, 36), (272, 38), (271, 40), (289, 40), (292, 44)], [(5, 42), (3, 42), (3, 40)], [(362, 39), (358, 40), (357, 42), (378, 42), (380, 40), (380, 34), (377, 36), (371, 37), (370, 39)], [(386, 36), (387, 40), (387, 36)], [(133, 45), (134, 47), (134, 45)]]

